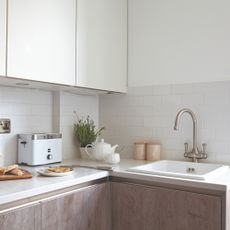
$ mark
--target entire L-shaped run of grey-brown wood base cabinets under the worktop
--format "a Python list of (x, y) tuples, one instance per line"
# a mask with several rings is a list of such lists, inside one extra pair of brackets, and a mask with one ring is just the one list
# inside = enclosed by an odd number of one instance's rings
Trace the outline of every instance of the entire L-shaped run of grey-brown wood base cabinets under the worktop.
[(103, 182), (0, 214), (1, 230), (226, 230), (223, 196)]

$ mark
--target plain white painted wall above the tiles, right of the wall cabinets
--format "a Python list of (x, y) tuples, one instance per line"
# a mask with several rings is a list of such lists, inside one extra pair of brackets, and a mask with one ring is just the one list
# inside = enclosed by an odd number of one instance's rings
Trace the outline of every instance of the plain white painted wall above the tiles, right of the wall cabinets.
[(129, 0), (129, 86), (230, 80), (230, 1)]

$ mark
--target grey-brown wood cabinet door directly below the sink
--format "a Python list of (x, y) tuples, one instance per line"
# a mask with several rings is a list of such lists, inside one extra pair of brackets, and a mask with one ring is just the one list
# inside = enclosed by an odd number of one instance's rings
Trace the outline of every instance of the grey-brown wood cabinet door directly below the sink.
[(111, 183), (112, 230), (221, 230), (221, 197)]

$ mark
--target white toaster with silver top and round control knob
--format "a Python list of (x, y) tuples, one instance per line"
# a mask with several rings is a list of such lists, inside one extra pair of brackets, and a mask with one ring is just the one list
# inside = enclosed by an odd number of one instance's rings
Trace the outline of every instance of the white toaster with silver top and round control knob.
[(61, 161), (61, 133), (18, 134), (19, 164), (36, 166)]

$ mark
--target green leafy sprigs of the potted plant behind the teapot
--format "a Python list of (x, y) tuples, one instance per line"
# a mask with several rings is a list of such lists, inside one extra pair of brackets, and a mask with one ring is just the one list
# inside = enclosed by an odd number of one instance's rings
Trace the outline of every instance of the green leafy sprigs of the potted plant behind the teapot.
[(86, 117), (86, 119), (78, 118), (78, 122), (74, 124), (74, 132), (81, 147), (85, 147), (87, 144), (91, 144), (96, 141), (97, 137), (100, 136), (104, 129), (105, 127), (96, 129), (94, 121), (90, 118), (89, 115)]

